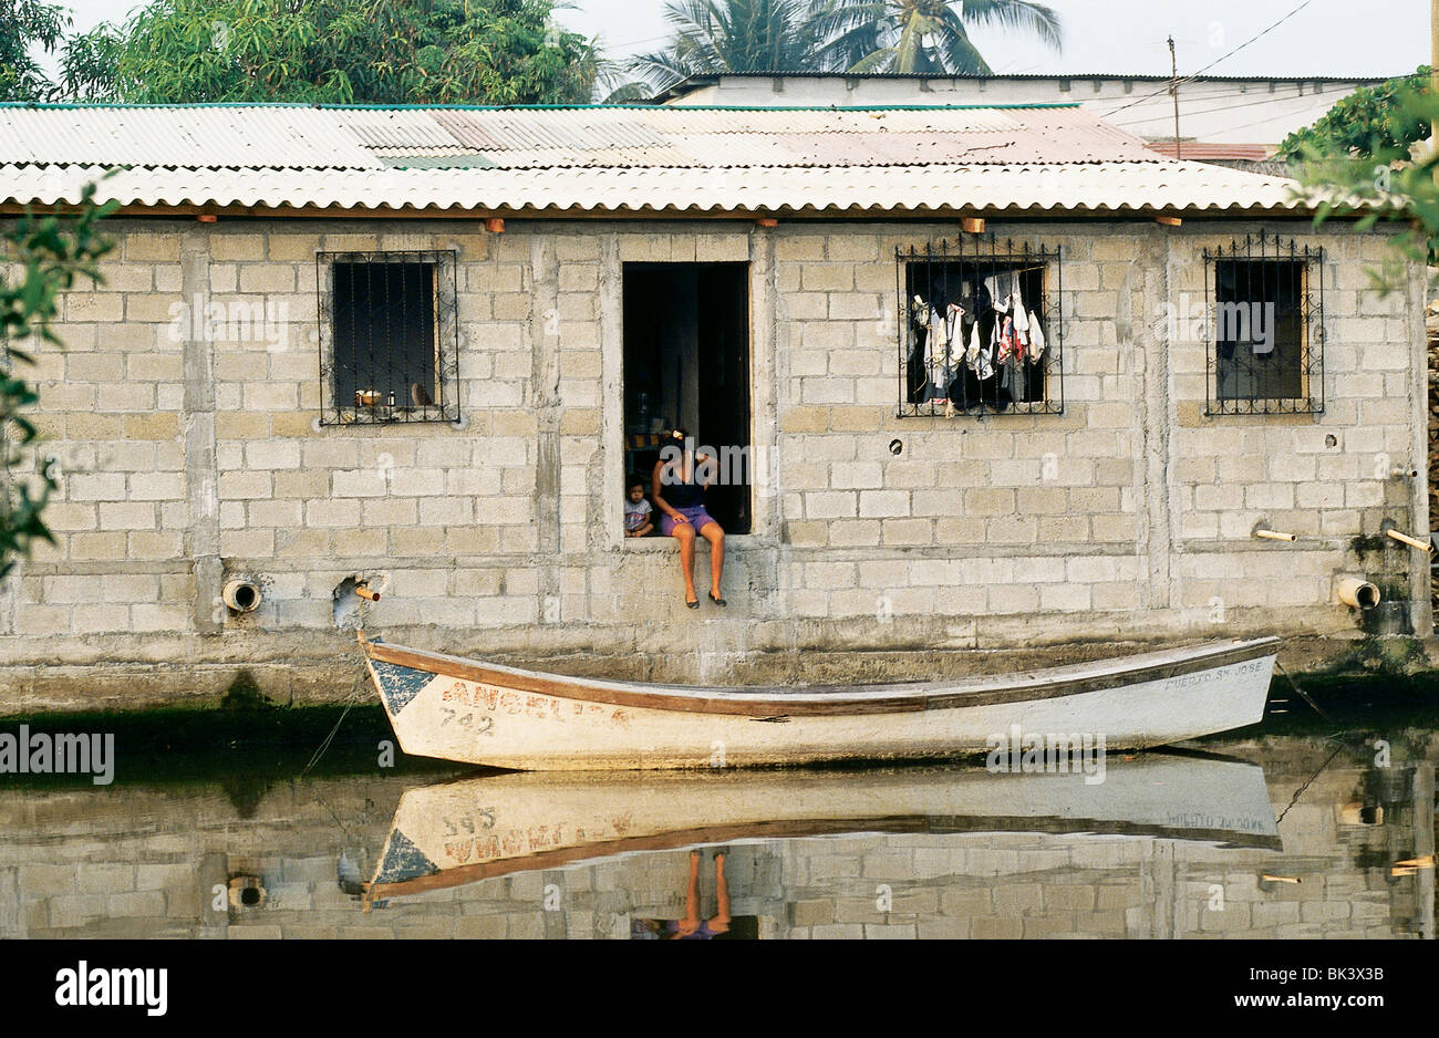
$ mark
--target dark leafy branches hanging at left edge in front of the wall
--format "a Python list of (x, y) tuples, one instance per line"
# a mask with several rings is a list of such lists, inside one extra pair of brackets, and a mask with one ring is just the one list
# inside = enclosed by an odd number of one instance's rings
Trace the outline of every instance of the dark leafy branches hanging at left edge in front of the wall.
[[(27, 344), (63, 346), (53, 331), (59, 316), (59, 296), (71, 290), (78, 277), (101, 283), (99, 259), (112, 247), (96, 223), (114, 210), (114, 203), (94, 204), (94, 185), (85, 190), (79, 214), (59, 213), (36, 217), (26, 214), (6, 234), (0, 270), (0, 578), (17, 558), (30, 554), (36, 541), (50, 541), (42, 513), (56, 487), (49, 463), (36, 464), (39, 430), (23, 411), (39, 394), (19, 368), (33, 367)], [(26, 344), (26, 345), (22, 345)], [(27, 477), (30, 469), (36, 476)]]

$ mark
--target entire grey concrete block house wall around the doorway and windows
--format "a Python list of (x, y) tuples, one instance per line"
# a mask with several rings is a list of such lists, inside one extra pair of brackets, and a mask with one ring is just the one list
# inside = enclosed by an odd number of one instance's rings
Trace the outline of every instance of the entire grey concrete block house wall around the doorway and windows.
[[(1361, 288), (1381, 236), (993, 224), (1063, 250), (1065, 413), (979, 421), (896, 417), (895, 249), (953, 224), (111, 227), (106, 283), (66, 296), (68, 349), (42, 351), (37, 424), (63, 480), (56, 545), (0, 587), (12, 712), (212, 694), (242, 666), (278, 699), (334, 699), (353, 637), (335, 591), (381, 574), (367, 623), (391, 641), (671, 680), (793, 669), (796, 647), (1350, 638), (1331, 582), (1356, 568), (1430, 623), (1423, 566), (1351, 545), (1384, 518), (1429, 523), (1425, 477), (1380, 472), (1423, 469), (1425, 428), (1419, 282)], [(1325, 249), (1322, 415), (1203, 417), (1204, 345), (1160, 318), (1202, 293), (1206, 244), (1252, 230)], [(319, 427), (315, 254), (413, 249), (458, 254), (462, 421)], [(671, 542), (620, 536), (623, 265), (708, 260), (751, 265), (761, 469), (724, 614), (675, 608)], [(207, 329), (193, 318), (212, 306), (226, 321)], [(1256, 542), (1261, 518), (1305, 538)], [(223, 608), (232, 575), (260, 582), (256, 612)], [(174, 687), (135, 686), (155, 661)]]

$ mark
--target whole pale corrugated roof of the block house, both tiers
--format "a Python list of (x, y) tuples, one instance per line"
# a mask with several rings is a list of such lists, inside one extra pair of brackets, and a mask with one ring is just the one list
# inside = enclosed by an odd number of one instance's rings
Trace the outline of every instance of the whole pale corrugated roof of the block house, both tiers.
[(0, 203), (485, 211), (1299, 210), (1073, 105), (0, 105)]

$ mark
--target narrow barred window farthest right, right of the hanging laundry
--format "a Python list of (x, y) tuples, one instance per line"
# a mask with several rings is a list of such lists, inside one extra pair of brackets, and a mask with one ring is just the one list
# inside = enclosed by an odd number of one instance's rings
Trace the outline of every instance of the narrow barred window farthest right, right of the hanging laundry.
[(1324, 413), (1324, 249), (1204, 249), (1204, 414)]

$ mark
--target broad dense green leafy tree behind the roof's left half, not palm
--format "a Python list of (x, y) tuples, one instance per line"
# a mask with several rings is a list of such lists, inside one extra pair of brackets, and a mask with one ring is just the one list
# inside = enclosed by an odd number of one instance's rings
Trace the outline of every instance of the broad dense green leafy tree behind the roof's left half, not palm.
[(553, 0), (153, 0), (66, 49), (71, 96), (134, 104), (574, 104), (594, 46)]

